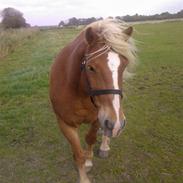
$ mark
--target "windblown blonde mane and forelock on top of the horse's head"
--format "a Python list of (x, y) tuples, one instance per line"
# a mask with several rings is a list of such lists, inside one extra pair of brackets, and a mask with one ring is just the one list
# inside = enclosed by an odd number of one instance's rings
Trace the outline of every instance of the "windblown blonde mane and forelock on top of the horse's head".
[(129, 78), (137, 60), (134, 39), (123, 33), (129, 26), (117, 19), (104, 19), (91, 23), (86, 28), (88, 27), (92, 27), (97, 35), (115, 52), (128, 59), (129, 64), (125, 69), (124, 79)]

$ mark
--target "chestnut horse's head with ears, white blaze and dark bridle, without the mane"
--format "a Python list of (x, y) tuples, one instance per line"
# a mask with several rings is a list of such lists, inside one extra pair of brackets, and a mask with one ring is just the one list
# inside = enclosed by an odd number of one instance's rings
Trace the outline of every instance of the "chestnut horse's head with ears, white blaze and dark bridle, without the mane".
[[(123, 30), (126, 36), (121, 41), (127, 41), (132, 30), (132, 27)], [(89, 95), (98, 108), (98, 119), (104, 134), (116, 137), (126, 123), (121, 99), (123, 72), (129, 61), (115, 52), (91, 27), (86, 29), (85, 38), (88, 47), (83, 65)]]

